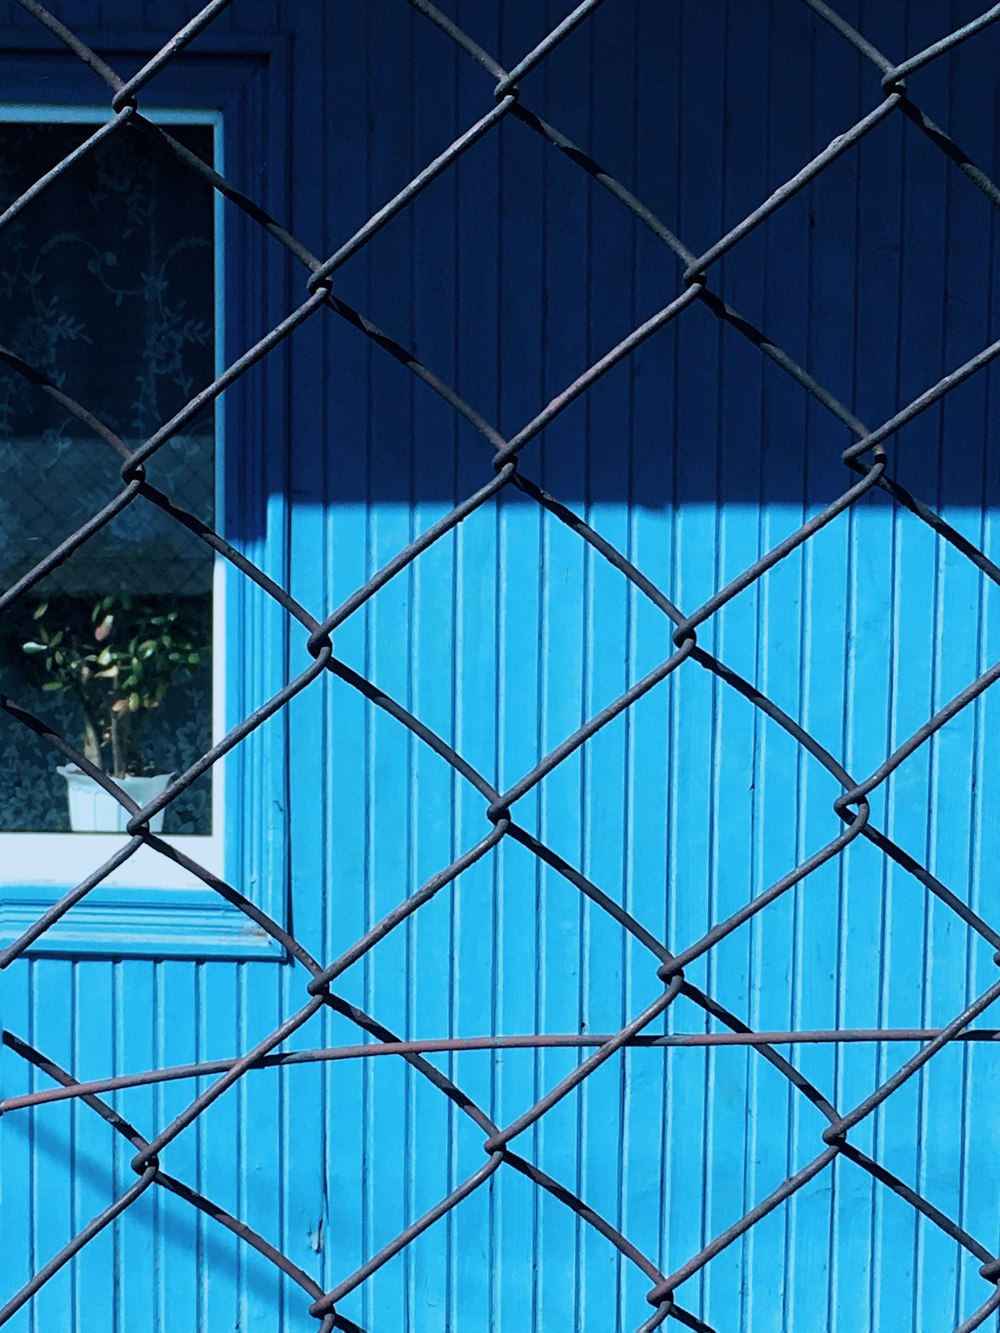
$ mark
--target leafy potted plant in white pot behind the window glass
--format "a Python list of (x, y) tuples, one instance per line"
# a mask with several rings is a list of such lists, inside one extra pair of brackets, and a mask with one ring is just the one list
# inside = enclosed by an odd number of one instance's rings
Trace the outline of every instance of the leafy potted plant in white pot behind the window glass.
[[(81, 749), (139, 805), (159, 796), (172, 773), (157, 773), (143, 750), (144, 722), (173, 684), (201, 666), (208, 637), (185, 628), (181, 612), (127, 593), (101, 597), (89, 616), (56, 616), (48, 601), (33, 613), (33, 659), (41, 689), (79, 709)], [(124, 829), (128, 810), (75, 764), (60, 766), (73, 832)], [(163, 812), (149, 821), (163, 828)]]

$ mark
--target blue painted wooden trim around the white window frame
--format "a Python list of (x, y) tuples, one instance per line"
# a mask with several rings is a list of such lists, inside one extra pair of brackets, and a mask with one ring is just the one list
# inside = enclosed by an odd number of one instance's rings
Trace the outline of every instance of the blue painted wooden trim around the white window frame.
[[(27, 35), (25, 35), (27, 36)], [(123, 55), (123, 68), (159, 45), (155, 33), (117, 35), (101, 49)], [(0, 53), (4, 101), (48, 105), (100, 105), (93, 75), (68, 52), (35, 51), (36, 35)], [(281, 160), (285, 141), (287, 35), (212, 44), (197, 59), (179, 59), (172, 77), (151, 103), (223, 113), (224, 169), (253, 197), (283, 217), (288, 181), (283, 172), (260, 175), (248, 153)], [(259, 125), (267, 129), (261, 145)], [(289, 264), (275, 253), (260, 228), (232, 208), (225, 211), (223, 284), (223, 364), (251, 345), (264, 327), (287, 313)], [(249, 277), (253, 275), (253, 277)], [(280, 583), (288, 579), (288, 488), (281, 451), (287, 393), (287, 355), (272, 353), (265, 367), (224, 399), (223, 463), (225, 536)], [(233, 452), (239, 444), (239, 456)], [(287, 625), (268, 599), (227, 568), (225, 725), (232, 726), (287, 678)], [(247, 653), (244, 645), (253, 645)], [(279, 716), (227, 758), (225, 877), (280, 924), (288, 918), (287, 721)], [(57, 834), (53, 834), (57, 836)], [(0, 946), (16, 940), (71, 884), (0, 885)], [(92, 890), (28, 950), (61, 957), (285, 958), (284, 950), (253, 922), (208, 888), (156, 889), (115, 886)]]

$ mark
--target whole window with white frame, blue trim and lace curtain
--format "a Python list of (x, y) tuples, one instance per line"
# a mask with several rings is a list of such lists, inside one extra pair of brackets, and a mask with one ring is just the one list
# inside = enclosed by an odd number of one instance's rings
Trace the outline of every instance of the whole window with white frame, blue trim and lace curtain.
[[(212, 71), (192, 67), (171, 89), (177, 104), (144, 105), (143, 115), (221, 171), (227, 133), (239, 141), (237, 123), (264, 93), (267, 72), (267, 60), (245, 53)], [(0, 108), (0, 211), (108, 119), (107, 107), (83, 99)], [(232, 232), (241, 261), (253, 263), (239, 219)], [(276, 281), (280, 288), (280, 263), (268, 289)], [(252, 339), (232, 281), (227, 309), (221, 196), (135, 127), (108, 135), (0, 233), (0, 344), (129, 447)], [(252, 545), (257, 563), (273, 569), (283, 552), (268, 537), (268, 517), (281, 496), (269, 481), (257, 493), (236, 476), (253, 468), (253, 445), (233, 475), (225, 467), (227, 417), (241, 428), (248, 415), (265, 416), (268, 392), (260, 379), (231, 391), (147, 471), (159, 491), (236, 545)], [(245, 445), (245, 431), (237, 433)], [(113, 448), (28, 384), (9, 357), (0, 364), (0, 467), (4, 588), (121, 489)], [(255, 505), (269, 507), (268, 517)], [(261, 621), (267, 612), (241, 583), (175, 519), (145, 500), (132, 504), (0, 617), (0, 688), (127, 788), (141, 784), (135, 794), (143, 804), (280, 681), (281, 632)], [(227, 660), (227, 640), (248, 625), (255, 660), (239, 661), (239, 651)], [(96, 784), (8, 716), (0, 717), (0, 941), (9, 942), (125, 834), (120, 808), (104, 806)], [(199, 778), (161, 828), (167, 841), (279, 918), (285, 858), (273, 797), (284, 766), (279, 722)], [(227, 784), (240, 792), (229, 806)], [(200, 878), (148, 849), (92, 889), (37, 948), (276, 956), (269, 938)]]

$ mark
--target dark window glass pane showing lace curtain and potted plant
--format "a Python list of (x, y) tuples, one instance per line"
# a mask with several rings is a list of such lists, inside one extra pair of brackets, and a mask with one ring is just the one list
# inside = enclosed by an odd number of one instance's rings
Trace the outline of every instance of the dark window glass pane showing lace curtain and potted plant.
[[(0, 209), (93, 131), (0, 123)], [(212, 127), (171, 135), (212, 161)], [(0, 344), (143, 443), (215, 367), (213, 197), (124, 127), (0, 235)], [(0, 587), (121, 488), (121, 459), (0, 361)], [(149, 460), (149, 481), (215, 521), (213, 417)], [(140, 804), (212, 736), (212, 553), (140, 499), (0, 617), (0, 688), (51, 722)], [(103, 830), (95, 784), (0, 713), (0, 829)], [(137, 785), (140, 780), (145, 785)], [(127, 784), (128, 785), (128, 784)], [(171, 805), (165, 832), (211, 832), (211, 774)]]

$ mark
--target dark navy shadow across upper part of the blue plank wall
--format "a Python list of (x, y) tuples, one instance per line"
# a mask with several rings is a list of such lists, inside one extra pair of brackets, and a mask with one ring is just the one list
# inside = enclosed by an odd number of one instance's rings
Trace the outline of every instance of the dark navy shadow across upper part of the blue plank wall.
[[(901, 53), (940, 25), (933, 7), (909, 9), (905, 31), (891, 13), (844, 12)], [(504, 15), (493, 33), (485, 15), (459, 17), (513, 59), (543, 16)], [(483, 112), (481, 72), (428, 24), (412, 39), (412, 68), (391, 52), (369, 61), (345, 111), (357, 124), (339, 127), (324, 253)], [(357, 40), (373, 53), (377, 33)], [(983, 115), (996, 49), (987, 32), (912, 91), (987, 171), (1000, 156)], [(416, 125), (396, 113), (400, 79), (404, 99), (428, 89)], [(695, 255), (880, 100), (876, 71), (837, 33), (777, 4), (635, 5), (627, 20), (599, 9), (521, 91)], [(889, 117), (711, 269), (711, 291), (747, 325), (696, 303), (532, 441), (524, 472), (571, 504), (833, 499), (853, 480), (840, 463), (853, 437), (753, 345), (757, 331), (875, 428), (996, 337), (997, 221), (936, 145)], [(335, 291), (509, 439), (668, 305), (683, 269), (579, 161), (509, 117), (348, 260)], [(336, 316), (307, 324), (291, 355), (323, 367), (323, 384), (297, 392), (327, 413), (323, 467), (315, 433), (293, 440), (299, 499), (448, 500), (489, 476), (488, 443)], [(892, 475), (931, 504), (996, 499), (989, 381), (980, 373), (889, 443)]]

